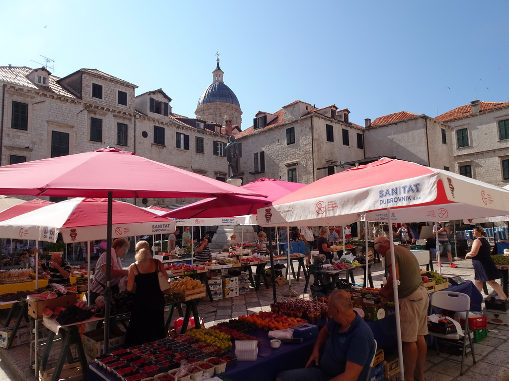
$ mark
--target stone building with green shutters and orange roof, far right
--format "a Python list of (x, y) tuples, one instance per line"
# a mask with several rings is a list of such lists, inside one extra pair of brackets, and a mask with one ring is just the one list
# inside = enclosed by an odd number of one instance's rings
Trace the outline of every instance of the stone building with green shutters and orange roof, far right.
[(509, 184), (509, 102), (472, 101), (436, 117), (454, 129), (453, 172)]

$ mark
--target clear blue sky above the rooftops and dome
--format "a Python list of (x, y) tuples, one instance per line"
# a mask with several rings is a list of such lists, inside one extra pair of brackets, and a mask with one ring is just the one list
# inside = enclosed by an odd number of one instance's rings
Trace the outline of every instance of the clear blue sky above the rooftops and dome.
[[(243, 110), (295, 100), (348, 108), (350, 121), (436, 116), (474, 99), (509, 101), (509, 1), (2, 2), (0, 66), (97, 68), (162, 88), (194, 116), (219, 51)], [(449, 89), (450, 88), (450, 89)]]

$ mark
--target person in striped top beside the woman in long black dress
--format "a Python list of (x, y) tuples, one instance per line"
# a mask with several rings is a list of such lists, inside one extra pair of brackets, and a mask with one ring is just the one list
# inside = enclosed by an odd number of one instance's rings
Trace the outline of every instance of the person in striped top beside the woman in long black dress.
[[(120, 279), (128, 274), (127, 270), (122, 269), (119, 260), (126, 250), (129, 250), (129, 241), (125, 238), (117, 238), (111, 244), (110, 289), (112, 294), (117, 294), (119, 292)], [(90, 285), (91, 304), (95, 304), (97, 297), (104, 294), (104, 290), (106, 289), (106, 255), (107, 253), (104, 251), (96, 263), (94, 281)]]

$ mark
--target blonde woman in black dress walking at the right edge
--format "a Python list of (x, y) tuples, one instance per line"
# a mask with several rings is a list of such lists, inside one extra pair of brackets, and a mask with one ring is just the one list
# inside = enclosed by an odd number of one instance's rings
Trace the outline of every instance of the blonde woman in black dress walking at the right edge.
[(484, 238), (486, 237), (484, 229), (480, 226), (476, 226), (472, 229), (472, 232), (475, 240), (472, 243), (472, 249), (465, 256), (465, 259), (472, 259), (475, 274), (475, 287), (477, 287), (479, 291), (483, 291), (483, 282), (486, 282), (499, 295), (497, 297), (498, 299), (507, 299), (507, 296), (502, 290), (502, 286), (495, 280), (500, 279), (502, 275), (491, 258), (491, 248), (486, 238)]

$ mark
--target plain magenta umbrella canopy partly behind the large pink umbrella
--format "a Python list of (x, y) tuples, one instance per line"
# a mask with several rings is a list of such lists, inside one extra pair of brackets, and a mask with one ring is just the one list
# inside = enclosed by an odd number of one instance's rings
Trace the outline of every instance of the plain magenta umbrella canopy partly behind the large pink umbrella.
[(254, 214), (257, 212), (257, 209), (269, 205), (272, 201), (288, 195), (304, 185), (298, 182), (261, 178), (242, 185), (240, 188), (267, 195), (266, 198), (223, 195), (197, 201), (182, 208), (172, 210), (163, 214), (163, 216), (171, 218), (210, 218)]

